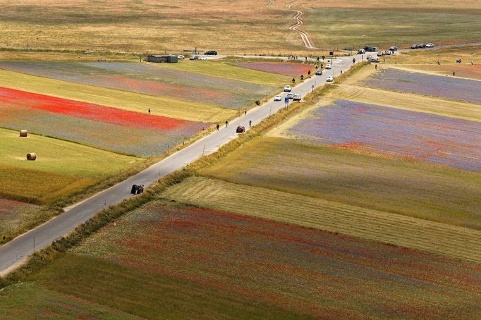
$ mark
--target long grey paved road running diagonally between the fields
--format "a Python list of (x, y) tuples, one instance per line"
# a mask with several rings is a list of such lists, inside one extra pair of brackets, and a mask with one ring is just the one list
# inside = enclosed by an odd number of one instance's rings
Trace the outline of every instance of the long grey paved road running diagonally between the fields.
[[(339, 75), (341, 70), (347, 70), (351, 66), (352, 59), (353, 57), (336, 59), (333, 63), (332, 70), (326, 70), (324, 71), (324, 75), (314, 76), (302, 84), (297, 85), (293, 88), (293, 93), (305, 96), (305, 94), (308, 94), (308, 92), (312, 90), (312, 85), (315, 87), (324, 85), (327, 75)], [(360, 61), (360, 57), (356, 56), (356, 60)], [(145, 171), (100, 192), (84, 202), (68, 208), (63, 214), (56, 216), (42, 226), (30, 230), (30, 232), (20, 235), (18, 238), (0, 247), (0, 274), (2, 272), (6, 273), (18, 266), (28, 255), (32, 254), (34, 239), (36, 250), (46, 247), (56, 238), (70, 233), (76, 226), (84, 223), (97, 214), (97, 212), (102, 211), (102, 209), (118, 204), (123, 199), (132, 197), (132, 195), (130, 195), (131, 185), (140, 184), (147, 187), (159, 178), (195, 161), (202, 156), (202, 154), (214, 152), (219, 146), (236, 137), (237, 134), (235, 131), (238, 125), (243, 125), (245, 128), (248, 128), (250, 120), (252, 121), (252, 125), (255, 125), (269, 116), (270, 113), (275, 113), (283, 108), (285, 95), (284, 93), (282, 94), (283, 101), (269, 101), (266, 104), (262, 104), (248, 111), (247, 115), (240, 116), (231, 121), (228, 128), (225, 128), (225, 125), (221, 125), (221, 130), (172, 154), (168, 158), (145, 169)]]

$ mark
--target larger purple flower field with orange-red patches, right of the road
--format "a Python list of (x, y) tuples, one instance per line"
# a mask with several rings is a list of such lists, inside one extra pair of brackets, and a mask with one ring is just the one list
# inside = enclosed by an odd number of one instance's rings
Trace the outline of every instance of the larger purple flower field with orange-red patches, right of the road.
[(481, 171), (481, 123), (353, 101), (319, 107), (287, 131), (300, 140)]

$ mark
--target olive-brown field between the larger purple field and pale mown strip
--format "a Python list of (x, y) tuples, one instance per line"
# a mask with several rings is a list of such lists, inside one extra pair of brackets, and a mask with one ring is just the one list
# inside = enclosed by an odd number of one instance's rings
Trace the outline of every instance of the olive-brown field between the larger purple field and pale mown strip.
[(412, 216), (481, 229), (481, 173), (375, 157), (348, 147), (352, 145), (333, 148), (294, 139), (259, 138), (203, 173), (233, 183), (376, 209), (396, 219)]

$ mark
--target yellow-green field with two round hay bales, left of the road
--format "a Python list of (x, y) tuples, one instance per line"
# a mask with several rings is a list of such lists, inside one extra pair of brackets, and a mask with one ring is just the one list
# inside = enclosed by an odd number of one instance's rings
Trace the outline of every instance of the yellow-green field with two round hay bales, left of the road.
[[(36, 161), (27, 161), (29, 152)], [(0, 195), (51, 203), (145, 161), (39, 135), (0, 129)]]

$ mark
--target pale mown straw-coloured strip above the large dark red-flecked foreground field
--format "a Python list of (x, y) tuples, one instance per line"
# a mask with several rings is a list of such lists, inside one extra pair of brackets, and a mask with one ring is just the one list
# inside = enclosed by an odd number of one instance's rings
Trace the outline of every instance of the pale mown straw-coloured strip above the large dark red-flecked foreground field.
[(480, 230), (200, 177), (170, 187), (161, 197), (481, 262)]

